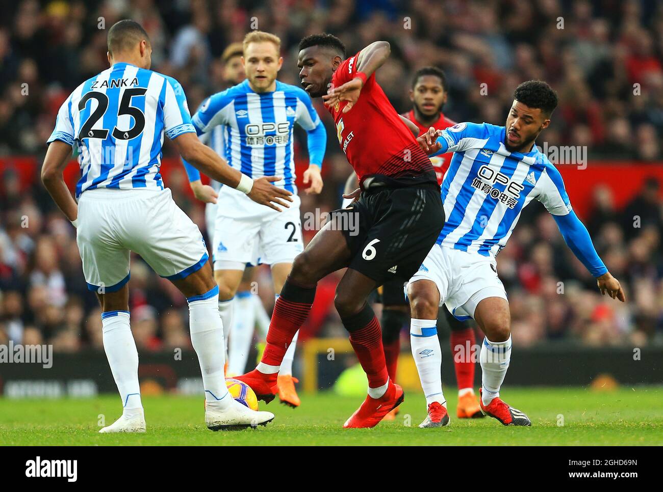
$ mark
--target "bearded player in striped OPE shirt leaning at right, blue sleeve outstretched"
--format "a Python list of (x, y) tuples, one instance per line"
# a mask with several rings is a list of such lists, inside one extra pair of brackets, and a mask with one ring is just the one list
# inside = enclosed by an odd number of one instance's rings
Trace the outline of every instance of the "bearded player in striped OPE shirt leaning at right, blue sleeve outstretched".
[(524, 413), (499, 397), (511, 360), (511, 315), (495, 256), (533, 199), (552, 214), (573, 254), (597, 278), (601, 294), (625, 301), (619, 281), (605, 268), (573, 212), (562, 175), (534, 144), (550, 124), (556, 93), (547, 83), (530, 80), (518, 85), (513, 97), (506, 126), (459, 123), (446, 130), (430, 128), (418, 138), (432, 156), (454, 152), (442, 183), (447, 221), (407, 287), (410, 323), (421, 330), (410, 339), (412, 353), (420, 354), (414, 360), (424, 393), (436, 395), (426, 398), (428, 417), (420, 427), (449, 421), (448, 415), (432, 418), (431, 408), (444, 405), (442, 360), (425, 356), (440, 352), (438, 337), (432, 334), (442, 303), (458, 319), (473, 318), (485, 333), (479, 354), (483, 413), (505, 425), (531, 425)]

